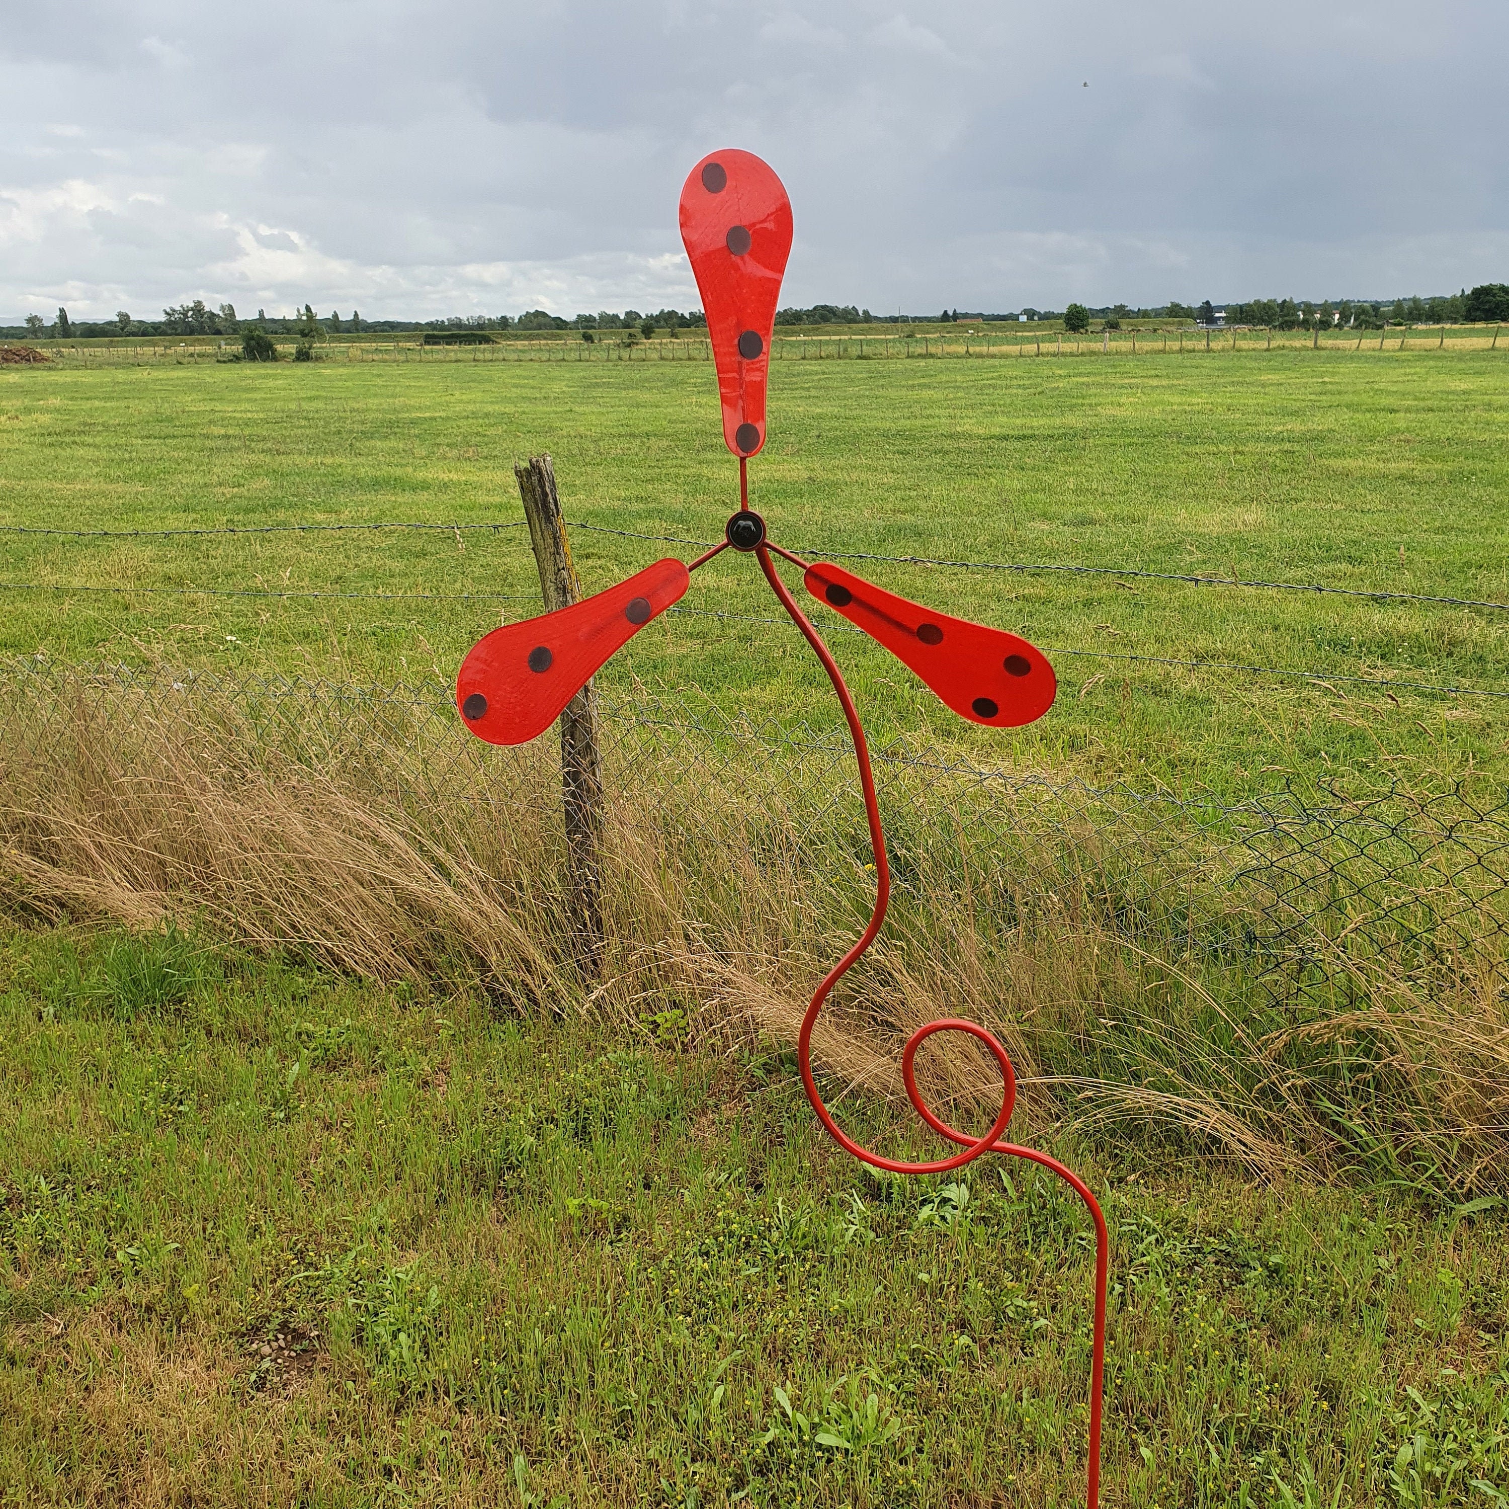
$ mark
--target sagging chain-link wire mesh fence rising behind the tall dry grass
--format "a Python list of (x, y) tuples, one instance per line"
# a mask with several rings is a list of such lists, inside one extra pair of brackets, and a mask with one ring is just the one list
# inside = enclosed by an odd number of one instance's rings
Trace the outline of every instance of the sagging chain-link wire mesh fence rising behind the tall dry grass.
[[(643, 828), (665, 863), (717, 884), (738, 842), (777, 877), (872, 886), (853, 748), (844, 732), (729, 714), (696, 693), (601, 699), (614, 821)], [(462, 726), (448, 685), (362, 687), (321, 678), (166, 665), (0, 667), (0, 744), (47, 759), (88, 730), (128, 759), (171, 720), (232, 726), (238, 758), (293, 761), (410, 809), (486, 789), (489, 810), (537, 815), (552, 739), (490, 748)], [(1334, 990), (1343, 961), (1411, 976), (1489, 969), (1509, 982), (1509, 792), (1289, 782), (1233, 803), (1126, 785), (1023, 777), (914, 739), (875, 751), (898, 896), (958, 881), (994, 925), (1093, 919), (1127, 939), (1174, 937), (1277, 999)], [(967, 872), (967, 874), (966, 874)], [(836, 880), (834, 880), (836, 877)], [(1486, 961), (1486, 963), (1485, 963)]]

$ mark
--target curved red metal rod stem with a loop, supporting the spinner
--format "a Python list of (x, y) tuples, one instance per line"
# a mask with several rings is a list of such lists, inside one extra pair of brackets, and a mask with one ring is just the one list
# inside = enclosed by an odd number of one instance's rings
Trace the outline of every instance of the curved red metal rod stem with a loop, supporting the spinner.
[[(1049, 1172), (1058, 1174), (1058, 1177), (1062, 1179), (1080, 1200), (1083, 1200), (1085, 1209), (1089, 1210), (1089, 1218), (1096, 1224), (1096, 1322), (1089, 1360), (1089, 1461), (1086, 1468), (1086, 1504), (1088, 1509), (1097, 1509), (1097, 1504), (1100, 1503), (1100, 1415), (1105, 1399), (1106, 1284), (1111, 1266), (1111, 1234), (1106, 1231), (1106, 1218), (1100, 1210), (1100, 1203), (1089, 1192), (1089, 1186), (1077, 1174), (1065, 1168), (1056, 1157), (1049, 1157), (1047, 1153), (1038, 1153), (1031, 1147), (1017, 1147), (1014, 1142), (1000, 1141), (1002, 1133), (1007, 1130), (1007, 1123), (1011, 1120), (1011, 1111), (1017, 1097), (1017, 1079), (1011, 1068), (1011, 1059), (1008, 1058), (1005, 1047), (994, 1037), (994, 1034), (987, 1032), (985, 1028), (975, 1022), (964, 1022), (958, 1017), (942, 1017), (937, 1022), (928, 1022), (925, 1026), (917, 1028), (910, 1038), (907, 1038), (907, 1046), (901, 1053), (901, 1077), (907, 1086), (907, 1099), (911, 1102), (917, 1115), (922, 1117), (922, 1120), (934, 1132), (964, 1148), (963, 1153), (955, 1153), (952, 1157), (936, 1159), (933, 1162), (907, 1163), (898, 1162), (893, 1157), (884, 1157), (880, 1153), (872, 1153), (868, 1147), (862, 1147), (844, 1132), (837, 1121), (833, 1120), (833, 1114), (828, 1111), (827, 1105), (824, 1105), (822, 1096), (818, 1093), (818, 1082), (812, 1074), (812, 1029), (816, 1026), (818, 1014), (822, 1011), (824, 1002), (831, 994), (833, 987), (848, 973), (871, 943), (875, 942), (875, 934), (880, 933), (880, 927), (886, 920), (886, 907), (890, 902), (890, 863), (886, 857), (886, 833), (880, 824), (880, 803), (875, 798), (875, 774), (869, 764), (869, 744), (865, 739), (865, 729), (859, 721), (854, 699), (850, 696), (850, 690), (845, 685), (844, 676), (841, 675), (833, 655), (828, 652), (827, 644), (822, 643), (821, 635), (807, 622), (806, 614), (797, 607), (795, 599), (786, 590), (786, 584), (780, 579), (780, 575), (770, 558), (771, 549), (779, 551), (782, 555), (788, 554), (786, 551), (782, 551), (780, 546), (758, 546), (754, 554), (759, 557), (761, 570), (765, 572), (765, 579), (780, 599), (780, 605), (791, 616), (797, 628), (801, 629), (803, 637), (812, 646), (818, 659), (822, 661), (822, 668), (828, 673), (828, 681), (833, 682), (833, 690), (837, 693), (839, 703), (844, 708), (844, 718), (848, 723), (850, 735), (854, 739), (854, 758), (859, 762), (860, 788), (865, 794), (865, 816), (869, 822), (869, 842), (875, 854), (875, 910), (871, 913), (869, 925), (860, 934), (859, 942), (856, 942), (844, 958), (841, 958), (837, 964), (834, 964), (833, 969), (830, 969), (822, 978), (822, 982), (812, 996), (812, 1003), (807, 1007), (806, 1016), (801, 1019), (801, 1034), (797, 1040), (797, 1061), (801, 1065), (801, 1083), (806, 1086), (807, 1100), (812, 1102), (812, 1109), (818, 1114), (818, 1120), (824, 1127), (827, 1127), (833, 1141), (837, 1142), (847, 1153), (851, 1153), (863, 1163), (869, 1163), (872, 1168), (883, 1168), (892, 1174), (943, 1174), (954, 1168), (963, 1168), (964, 1163), (972, 1162), (982, 1153), (1000, 1153), (1007, 1157), (1023, 1157), (1032, 1163), (1040, 1163), (1043, 1168), (1049, 1169)], [(788, 555), (788, 560), (795, 560), (795, 557)], [(798, 564), (806, 563), (798, 561)], [(934, 1032), (967, 1032), (990, 1050), (996, 1064), (1000, 1067), (1000, 1112), (996, 1115), (993, 1126), (982, 1138), (967, 1136), (955, 1127), (951, 1127), (940, 1117), (934, 1115), (917, 1089), (917, 1049)]]

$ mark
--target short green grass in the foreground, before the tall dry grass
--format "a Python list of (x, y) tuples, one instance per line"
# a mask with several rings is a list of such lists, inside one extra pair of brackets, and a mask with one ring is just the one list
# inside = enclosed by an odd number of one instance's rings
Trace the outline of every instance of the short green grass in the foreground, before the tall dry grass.
[[(5, 936), (0, 1501), (1079, 1503), (1073, 1197), (871, 1177), (681, 1031)], [(1504, 1501), (1501, 1204), (1076, 1160), (1106, 1503)]]

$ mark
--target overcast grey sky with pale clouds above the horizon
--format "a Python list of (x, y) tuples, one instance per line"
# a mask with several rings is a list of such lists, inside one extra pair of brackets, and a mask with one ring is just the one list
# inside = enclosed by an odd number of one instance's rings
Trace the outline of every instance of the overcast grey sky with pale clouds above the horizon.
[(1506, 95), (1504, 0), (0, 0), (0, 318), (685, 309), (717, 146), (783, 303), (1455, 291)]

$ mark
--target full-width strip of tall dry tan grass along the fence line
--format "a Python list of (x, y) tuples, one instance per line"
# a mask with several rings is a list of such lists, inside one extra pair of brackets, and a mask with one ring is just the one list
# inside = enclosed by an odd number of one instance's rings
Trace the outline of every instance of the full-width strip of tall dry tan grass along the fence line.
[[(656, 792), (656, 773), (640, 770), (632, 809), (608, 824), (608, 970), (584, 993), (563, 964), (549, 741), (487, 779), (451, 767), (445, 782), (413, 747), (359, 761), (278, 753), (243, 717), (205, 721), (198, 706), (122, 720), (80, 700), (66, 729), (0, 748), (3, 884), (44, 914), (131, 927), (196, 914), (254, 948), (358, 975), (480, 981), (524, 1010), (632, 1025), (679, 1007), (699, 1038), (735, 1049), (794, 1041), (824, 961), (868, 908), (872, 877), (842, 847), (804, 868), (794, 821), (751, 816), (717, 780)], [(1269, 1177), (1382, 1157), (1456, 1189), (1501, 1183), (1509, 1003), (1497, 954), (1424, 988), (1322, 939), (1348, 1005), (1286, 1017), (1251, 979), (1197, 975), (1188, 917), (1136, 942), (1115, 930), (1093, 904), (1111, 841), (1089, 827), (1071, 833), (1067, 859), (1062, 841), (1022, 859), (1028, 874), (1011, 884), (1034, 889), (1028, 910), (972, 862), (961, 827), (949, 833), (946, 800), (931, 800), (949, 863), (919, 851), (911, 901), (815, 1035), (839, 1099), (896, 1097), (907, 1035), (963, 1016), (1013, 1056), (1017, 1135), (1142, 1124)], [(988, 1118), (999, 1080), (973, 1043), (934, 1038), (919, 1064), (943, 1115)], [(1338, 1118), (1326, 1102), (1357, 1082), (1366, 1094)]]

